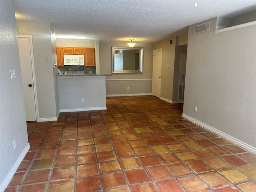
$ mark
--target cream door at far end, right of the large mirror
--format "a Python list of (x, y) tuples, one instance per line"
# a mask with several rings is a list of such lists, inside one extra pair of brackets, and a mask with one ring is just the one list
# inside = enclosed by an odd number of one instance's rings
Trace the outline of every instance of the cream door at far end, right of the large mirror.
[(161, 96), (161, 69), (162, 49), (157, 49), (153, 51), (152, 94), (158, 98)]

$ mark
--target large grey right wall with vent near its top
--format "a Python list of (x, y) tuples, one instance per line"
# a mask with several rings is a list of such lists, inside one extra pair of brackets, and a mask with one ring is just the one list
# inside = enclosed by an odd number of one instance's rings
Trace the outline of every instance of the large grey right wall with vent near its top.
[(183, 113), (256, 149), (256, 26), (215, 33), (216, 20), (189, 26)]

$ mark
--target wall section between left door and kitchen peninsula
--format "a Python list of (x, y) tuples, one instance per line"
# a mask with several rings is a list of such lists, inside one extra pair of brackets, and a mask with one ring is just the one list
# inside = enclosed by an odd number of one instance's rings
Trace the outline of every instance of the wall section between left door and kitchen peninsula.
[[(39, 120), (56, 119), (55, 96), (57, 67), (54, 69), (54, 46), (51, 41), (51, 25), (42, 22), (16, 22), (19, 35), (32, 35), (34, 63), (36, 72), (36, 89), (38, 96)], [(54, 83), (55, 82), (55, 83)]]

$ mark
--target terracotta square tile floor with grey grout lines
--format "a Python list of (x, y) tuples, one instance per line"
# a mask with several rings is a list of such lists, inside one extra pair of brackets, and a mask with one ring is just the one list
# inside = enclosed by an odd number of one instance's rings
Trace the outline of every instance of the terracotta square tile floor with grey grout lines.
[(30, 150), (5, 192), (255, 192), (256, 155), (154, 96), (28, 123)]

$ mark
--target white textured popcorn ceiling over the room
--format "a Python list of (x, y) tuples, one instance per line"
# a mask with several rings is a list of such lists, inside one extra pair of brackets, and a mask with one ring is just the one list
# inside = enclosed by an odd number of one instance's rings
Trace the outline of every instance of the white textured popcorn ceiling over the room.
[(256, 10), (255, 0), (14, 0), (14, 5), (16, 20), (51, 23), (57, 35), (135, 42), (157, 42), (209, 18)]

